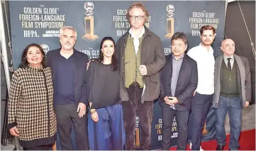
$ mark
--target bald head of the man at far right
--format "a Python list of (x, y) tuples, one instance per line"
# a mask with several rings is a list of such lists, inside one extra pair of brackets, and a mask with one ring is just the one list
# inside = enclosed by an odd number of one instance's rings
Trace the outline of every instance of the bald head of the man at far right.
[(221, 51), (226, 57), (230, 57), (235, 52), (235, 42), (231, 39), (223, 40), (221, 43)]

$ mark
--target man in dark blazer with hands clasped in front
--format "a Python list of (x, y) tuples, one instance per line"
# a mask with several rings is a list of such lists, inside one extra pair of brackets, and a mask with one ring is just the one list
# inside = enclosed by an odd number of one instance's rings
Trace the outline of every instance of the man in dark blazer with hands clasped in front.
[(186, 150), (187, 123), (191, 97), (197, 86), (197, 65), (187, 50), (187, 35), (172, 35), (172, 54), (160, 72), (160, 106), (162, 107), (162, 150), (169, 150), (172, 121), (175, 115), (178, 126), (177, 150)]

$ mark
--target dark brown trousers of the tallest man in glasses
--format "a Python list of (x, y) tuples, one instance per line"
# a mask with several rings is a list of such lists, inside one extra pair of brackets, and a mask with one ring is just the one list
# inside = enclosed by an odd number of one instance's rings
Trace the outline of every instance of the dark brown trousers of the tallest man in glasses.
[(123, 102), (123, 123), (126, 130), (126, 150), (135, 150), (135, 124), (138, 113), (140, 132), (140, 150), (150, 150), (151, 123), (153, 118), (154, 102), (141, 104), (143, 89), (139, 84), (129, 86), (127, 89), (129, 101)]

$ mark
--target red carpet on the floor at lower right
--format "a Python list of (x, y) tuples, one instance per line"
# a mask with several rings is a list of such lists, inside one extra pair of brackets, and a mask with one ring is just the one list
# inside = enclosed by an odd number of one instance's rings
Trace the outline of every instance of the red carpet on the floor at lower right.
[[(255, 150), (255, 129), (245, 130), (240, 135), (240, 148), (239, 150)], [(224, 150), (228, 150), (229, 135), (227, 135), (227, 145)], [(208, 142), (201, 142), (201, 147), (204, 150), (216, 150), (217, 142), (216, 140), (211, 140)], [(170, 150), (176, 150), (177, 147), (171, 147)], [(190, 150), (189, 145), (187, 145), (187, 150)]]

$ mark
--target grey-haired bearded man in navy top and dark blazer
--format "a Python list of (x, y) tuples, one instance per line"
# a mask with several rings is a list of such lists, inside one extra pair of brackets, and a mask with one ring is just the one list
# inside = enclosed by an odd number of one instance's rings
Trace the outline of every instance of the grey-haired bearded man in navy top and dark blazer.
[(74, 49), (77, 31), (72, 26), (60, 29), (60, 45), (47, 54), (54, 85), (53, 105), (62, 150), (73, 150), (72, 123), (78, 150), (89, 150), (87, 131), (87, 62), (88, 56)]

